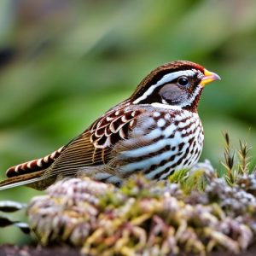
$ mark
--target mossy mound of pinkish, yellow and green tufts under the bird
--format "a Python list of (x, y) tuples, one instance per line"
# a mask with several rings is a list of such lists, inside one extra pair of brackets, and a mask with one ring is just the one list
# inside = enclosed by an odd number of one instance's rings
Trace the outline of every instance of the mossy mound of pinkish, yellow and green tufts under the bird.
[(230, 186), (202, 166), (189, 177), (181, 171), (180, 184), (62, 180), (32, 200), (29, 223), (44, 245), (66, 242), (90, 255), (240, 253), (255, 239), (256, 175), (239, 174)]

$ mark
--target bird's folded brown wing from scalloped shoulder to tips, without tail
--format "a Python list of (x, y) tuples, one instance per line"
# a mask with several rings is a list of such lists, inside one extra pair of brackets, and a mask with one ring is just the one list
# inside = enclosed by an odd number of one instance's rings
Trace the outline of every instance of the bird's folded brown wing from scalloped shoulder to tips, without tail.
[(138, 110), (113, 110), (97, 119), (89, 130), (64, 148), (45, 176), (72, 176), (81, 167), (107, 164), (113, 145), (128, 137), (139, 113)]

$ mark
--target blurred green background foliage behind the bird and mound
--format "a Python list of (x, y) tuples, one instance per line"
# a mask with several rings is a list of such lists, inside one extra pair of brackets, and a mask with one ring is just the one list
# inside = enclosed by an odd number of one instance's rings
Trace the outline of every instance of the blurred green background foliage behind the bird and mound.
[[(223, 131), (256, 145), (255, 49), (253, 0), (0, 1), (0, 177), (68, 143), (154, 67), (178, 59), (222, 77), (199, 108), (201, 159), (220, 166)], [(38, 194), (11, 189), (0, 200)], [(7, 241), (26, 238), (8, 228)]]

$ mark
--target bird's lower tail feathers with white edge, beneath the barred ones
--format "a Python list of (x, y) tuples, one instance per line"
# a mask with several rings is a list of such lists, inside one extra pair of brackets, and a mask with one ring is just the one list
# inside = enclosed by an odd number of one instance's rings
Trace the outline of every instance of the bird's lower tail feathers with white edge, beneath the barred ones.
[(11, 189), (22, 185), (29, 185), (32, 188), (42, 190), (39, 186), (40, 181), (44, 180), (44, 171), (32, 172), (17, 177), (9, 177), (0, 182), (0, 190)]

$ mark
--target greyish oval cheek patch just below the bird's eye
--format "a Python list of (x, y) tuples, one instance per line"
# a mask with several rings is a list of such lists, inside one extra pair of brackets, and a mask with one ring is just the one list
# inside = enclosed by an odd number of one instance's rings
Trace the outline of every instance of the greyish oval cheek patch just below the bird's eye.
[(184, 102), (188, 99), (188, 94), (186, 90), (182, 90), (176, 84), (166, 84), (164, 85), (160, 91), (159, 95), (162, 99), (170, 104), (177, 104)]

